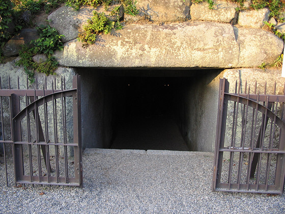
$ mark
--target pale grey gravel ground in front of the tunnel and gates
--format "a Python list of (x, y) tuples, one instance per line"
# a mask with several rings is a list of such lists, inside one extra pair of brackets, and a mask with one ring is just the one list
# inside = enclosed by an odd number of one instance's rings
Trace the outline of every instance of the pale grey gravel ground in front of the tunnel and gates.
[(212, 164), (209, 152), (87, 149), (82, 189), (40, 185), (24, 189), (6, 186), (2, 163), (0, 212), (285, 212), (285, 194), (211, 192)]

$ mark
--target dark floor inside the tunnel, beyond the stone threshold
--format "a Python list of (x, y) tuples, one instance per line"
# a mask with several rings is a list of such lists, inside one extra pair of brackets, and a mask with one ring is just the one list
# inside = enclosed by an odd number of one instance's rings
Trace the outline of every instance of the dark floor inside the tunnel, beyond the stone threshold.
[(118, 124), (111, 149), (189, 151), (171, 116), (136, 116)]

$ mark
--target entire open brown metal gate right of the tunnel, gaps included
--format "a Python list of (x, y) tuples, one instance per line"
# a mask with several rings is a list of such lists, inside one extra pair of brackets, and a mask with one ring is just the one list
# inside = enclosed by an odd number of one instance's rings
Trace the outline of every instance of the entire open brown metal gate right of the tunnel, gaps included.
[[(285, 95), (220, 79), (213, 191), (280, 194), (285, 176)], [(285, 90), (285, 89), (284, 89)], [(285, 91), (284, 91), (285, 94)]]

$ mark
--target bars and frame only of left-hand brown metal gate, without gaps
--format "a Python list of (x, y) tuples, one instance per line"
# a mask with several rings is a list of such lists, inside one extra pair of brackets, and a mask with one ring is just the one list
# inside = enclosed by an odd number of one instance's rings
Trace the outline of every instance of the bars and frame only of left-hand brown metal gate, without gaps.
[[(7, 159), (6, 159), (6, 144), (12, 144), (13, 154), (13, 165), (14, 165), (14, 179), (16, 185), (19, 183), (28, 184), (52, 184), (52, 185), (73, 185), (82, 187), (83, 175), (82, 175), (82, 149), (81, 149), (81, 89), (80, 89), (80, 76), (77, 74), (73, 76), (72, 89), (65, 89), (65, 77), (61, 78), (61, 90), (56, 90), (56, 78), (52, 81), (52, 89), (47, 90), (47, 83), (45, 77), (45, 84), (43, 90), (38, 89), (38, 79), (36, 77), (36, 88), (29, 89), (29, 81), (26, 78), (27, 89), (19, 89), (19, 77), (18, 77), (18, 88), (11, 89), (10, 76), (9, 76), (9, 89), (2, 89), (1, 77), (0, 77), (0, 105), (1, 105), (1, 122), (3, 140), (0, 143), (4, 144), (4, 160), (5, 160), (5, 171), (6, 171), (6, 183), (8, 186), (8, 172), (7, 172)], [(54, 88), (53, 88), (54, 87)], [(10, 103), (10, 125), (11, 125), (11, 141), (5, 140), (4, 132), (4, 119), (3, 119), (3, 96), (9, 97)], [(26, 106), (20, 111), (20, 96), (24, 96), (26, 100)], [(41, 98), (38, 98), (41, 96)], [(72, 97), (73, 103), (73, 143), (67, 143), (66, 141), (66, 101), (65, 97)], [(63, 143), (58, 143), (58, 128), (56, 121), (56, 99), (61, 99), (62, 103), (62, 114), (63, 114)], [(29, 102), (30, 100), (30, 102)], [(52, 112), (53, 112), (53, 131), (54, 141), (50, 142), (48, 137), (48, 125), (47, 125), (47, 103), (52, 101)], [(43, 133), (38, 108), (44, 106), (44, 120), (45, 120), (45, 135)], [(55, 108), (55, 111), (54, 111)], [(36, 124), (36, 142), (31, 142), (30, 132), (30, 113), (33, 112)], [(22, 141), (21, 137), (21, 120), (27, 119), (27, 142)], [(55, 118), (55, 119), (54, 119)], [(30, 129), (29, 129), (30, 128)], [(23, 163), (23, 145), (29, 146), (29, 163), (30, 163), (30, 175), (24, 175), (24, 163)], [(33, 164), (32, 164), (32, 150), (31, 146), (36, 145), (38, 156), (38, 167), (39, 175), (33, 175)], [(49, 158), (49, 146), (55, 146), (55, 151), (58, 151), (59, 146), (64, 146), (64, 160), (65, 160), (65, 177), (60, 177), (59, 174), (59, 157), (58, 152), (55, 152), (55, 168), (56, 176), (50, 176), (50, 158)], [(74, 149), (74, 173), (75, 177), (68, 177), (68, 166), (67, 166), (67, 146), (72, 146)], [(41, 152), (44, 157), (45, 166), (47, 169), (47, 176), (43, 176), (41, 173)]]

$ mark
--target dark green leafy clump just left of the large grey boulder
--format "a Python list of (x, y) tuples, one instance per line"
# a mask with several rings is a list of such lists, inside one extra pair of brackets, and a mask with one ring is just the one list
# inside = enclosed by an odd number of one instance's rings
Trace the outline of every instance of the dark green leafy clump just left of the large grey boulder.
[(40, 37), (31, 42), (35, 45), (36, 52), (52, 55), (54, 50), (63, 49), (61, 38), (64, 37), (64, 35), (59, 35), (58, 31), (49, 25), (41, 25), (37, 29), (40, 33)]

